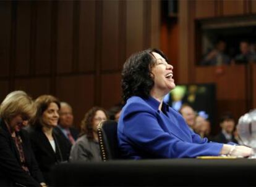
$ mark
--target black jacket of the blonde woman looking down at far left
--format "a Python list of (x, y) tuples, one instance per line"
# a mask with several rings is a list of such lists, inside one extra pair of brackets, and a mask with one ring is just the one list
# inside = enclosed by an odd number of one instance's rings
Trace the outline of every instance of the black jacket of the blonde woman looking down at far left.
[(28, 133), (20, 130), (22, 148), (30, 175), (21, 166), (20, 154), (6, 123), (0, 119), (0, 186), (40, 186), (44, 182), (33, 154)]

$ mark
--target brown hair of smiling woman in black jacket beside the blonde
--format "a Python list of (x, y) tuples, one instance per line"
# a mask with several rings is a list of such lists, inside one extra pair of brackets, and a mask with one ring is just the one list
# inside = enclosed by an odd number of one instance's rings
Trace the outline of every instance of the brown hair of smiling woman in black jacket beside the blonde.
[(37, 108), (35, 122), (32, 126), (36, 128), (43, 127), (43, 113), (49, 107), (51, 103), (56, 103), (58, 108), (61, 108), (61, 104), (58, 98), (54, 97), (53, 95), (41, 95), (40, 97), (36, 98), (35, 104)]

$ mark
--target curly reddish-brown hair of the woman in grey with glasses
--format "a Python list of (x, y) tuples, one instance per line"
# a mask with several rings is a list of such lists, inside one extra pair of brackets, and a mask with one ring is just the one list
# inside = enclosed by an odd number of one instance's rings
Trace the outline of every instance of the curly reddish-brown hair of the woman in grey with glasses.
[(87, 113), (85, 113), (85, 117), (83, 117), (80, 127), (81, 127), (81, 133), (80, 136), (86, 134), (88, 140), (93, 140), (93, 118), (96, 115), (97, 111), (103, 111), (106, 115), (106, 118), (108, 119), (108, 114), (104, 108), (94, 106), (91, 108)]

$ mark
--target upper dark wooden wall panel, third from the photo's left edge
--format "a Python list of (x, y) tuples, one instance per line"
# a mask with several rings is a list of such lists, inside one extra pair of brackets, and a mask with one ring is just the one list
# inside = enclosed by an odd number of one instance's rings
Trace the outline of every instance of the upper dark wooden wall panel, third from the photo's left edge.
[(52, 3), (38, 1), (36, 8), (35, 74), (49, 74), (51, 50), (53, 50), (51, 47)]

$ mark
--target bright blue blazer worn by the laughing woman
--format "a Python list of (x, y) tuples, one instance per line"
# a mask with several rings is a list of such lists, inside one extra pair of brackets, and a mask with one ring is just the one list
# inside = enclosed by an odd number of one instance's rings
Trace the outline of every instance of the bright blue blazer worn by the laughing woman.
[(218, 156), (223, 144), (207, 143), (189, 129), (181, 114), (155, 98), (130, 97), (122, 109), (117, 137), (129, 159)]

